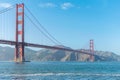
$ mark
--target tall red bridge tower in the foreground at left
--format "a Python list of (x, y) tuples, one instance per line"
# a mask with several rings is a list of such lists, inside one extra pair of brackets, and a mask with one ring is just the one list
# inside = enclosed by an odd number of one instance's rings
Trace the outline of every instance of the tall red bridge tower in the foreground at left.
[(24, 62), (24, 4), (16, 4), (15, 62)]

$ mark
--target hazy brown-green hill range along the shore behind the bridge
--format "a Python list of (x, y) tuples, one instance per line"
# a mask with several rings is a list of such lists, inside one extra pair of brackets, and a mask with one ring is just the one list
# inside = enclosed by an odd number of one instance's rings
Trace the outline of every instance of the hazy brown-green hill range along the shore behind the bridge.
[[(59, 46), (69, 48), (65, 46)], [(0, 47), (0, 61), (11, 61), (14, 59), (14, 48)], [(120, 61), (120, 56), (108, 51), (95, 51), (95, 61)], [(25, 48), (25, 59), (32, 61), (89, 61), (90, 56), (76, 52), (63, 50), (42, 49), (34, 51)]]

